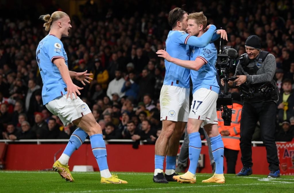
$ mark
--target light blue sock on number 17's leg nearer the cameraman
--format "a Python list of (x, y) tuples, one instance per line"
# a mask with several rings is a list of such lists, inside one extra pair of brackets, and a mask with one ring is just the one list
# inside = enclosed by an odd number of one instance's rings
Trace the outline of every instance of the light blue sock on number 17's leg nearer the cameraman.
[(216, 174), (223, 174), (223, 140), (219, 134), (216, 137), (211, 137), (211, 150), (213, 154), (213, 159), (216, 162)]

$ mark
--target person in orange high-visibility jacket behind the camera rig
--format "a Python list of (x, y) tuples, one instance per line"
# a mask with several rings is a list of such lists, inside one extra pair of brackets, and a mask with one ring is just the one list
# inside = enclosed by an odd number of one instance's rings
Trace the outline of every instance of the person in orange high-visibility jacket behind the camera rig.
[[(240, 120), (242, 103), (240, 102), (240, 94), (232, 93), (233, 109), (232, 109), (232, 122), (230, 126), (224, 126), (221, 112), (218, 111), (218, 131), (220, 132), (224, 144), (224, 156), (227, 160), (227, 173), (235, 174), (235, 166), (240, 151)], [(231, 108), (230, 106), (228, 106)]]

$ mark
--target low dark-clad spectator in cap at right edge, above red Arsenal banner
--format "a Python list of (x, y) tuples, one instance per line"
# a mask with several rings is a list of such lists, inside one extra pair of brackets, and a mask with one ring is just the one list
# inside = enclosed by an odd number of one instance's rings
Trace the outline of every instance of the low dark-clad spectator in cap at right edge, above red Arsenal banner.
[(275, 141), (277, 142), (290, 142), (294, 137), (293, 128), (288, 120), (282, 122), (282, 126), (279, 129), (279, 132), (276, 134)]

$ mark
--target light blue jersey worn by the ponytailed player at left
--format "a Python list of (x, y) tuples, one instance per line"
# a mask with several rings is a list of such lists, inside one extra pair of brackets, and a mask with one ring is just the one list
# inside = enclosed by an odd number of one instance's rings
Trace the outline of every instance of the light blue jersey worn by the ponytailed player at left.
[(63, 58), (68, 66), (62, 42), (55, 35), (48, 34), (39, 42), (36, 50), (36, 59), (43, 81), (42, 99), (44, 105), (58, 96), (67, 94), (66, 84), (59, 69), (53, 63), (57, 58)]

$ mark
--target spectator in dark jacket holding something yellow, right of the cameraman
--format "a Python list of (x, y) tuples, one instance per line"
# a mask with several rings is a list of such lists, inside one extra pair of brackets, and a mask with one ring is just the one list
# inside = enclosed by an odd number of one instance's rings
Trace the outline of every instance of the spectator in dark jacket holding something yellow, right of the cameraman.
[(283, 92), (278, 101), (278, 121), (289, 120), (294, 115), (294, 94), (292, 92), (292, 83), (290, 79), (283, 81)]

